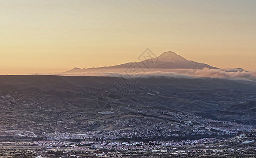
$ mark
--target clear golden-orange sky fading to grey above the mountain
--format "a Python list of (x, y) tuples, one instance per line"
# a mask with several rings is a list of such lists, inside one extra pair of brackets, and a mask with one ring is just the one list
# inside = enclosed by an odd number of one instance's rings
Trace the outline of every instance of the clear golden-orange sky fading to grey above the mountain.
[(138, 61), (146, 49), (256, 70), (256, 1), (0, 1), (0, 74)]

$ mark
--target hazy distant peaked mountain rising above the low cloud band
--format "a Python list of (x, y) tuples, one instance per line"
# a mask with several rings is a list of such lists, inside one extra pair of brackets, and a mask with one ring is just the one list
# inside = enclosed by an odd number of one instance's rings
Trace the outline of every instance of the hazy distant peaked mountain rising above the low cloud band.
[[(147, 65), (145, 65), (147, 63)], [(124, 70), (124, 68), (128, 68), (133, 63), (125, 63), (121, 65), (115, 65), (115, 66), (105, 66), (105, 67), (94, 67), (94, 68), (74, 68), (70, 71), (67, 71), (65, 73), (78, 73), (78, 72), (88, 72), (88, 71), (109, 71), (109, 72), (115, 72), (115, 70)], [(164, 52), (161, 55), (159, 55), (156, 58), (147, 59), (142, 62), (137, 62), (141, 68), (143, 68), (145, 71), (161, 71), (161, 70), (167, 70), (167, 69), (177, 69), (177, 68), (183, 68), (183, 69), (203, 69), (205, 67), (209, 69), (216, 69), (217, 67), (213, 67), (207, 64), (203, 63), (197, 63), (194, 61), (188, 61), (186, 58), (176, 54), (175, 52), (168, 51)]]

